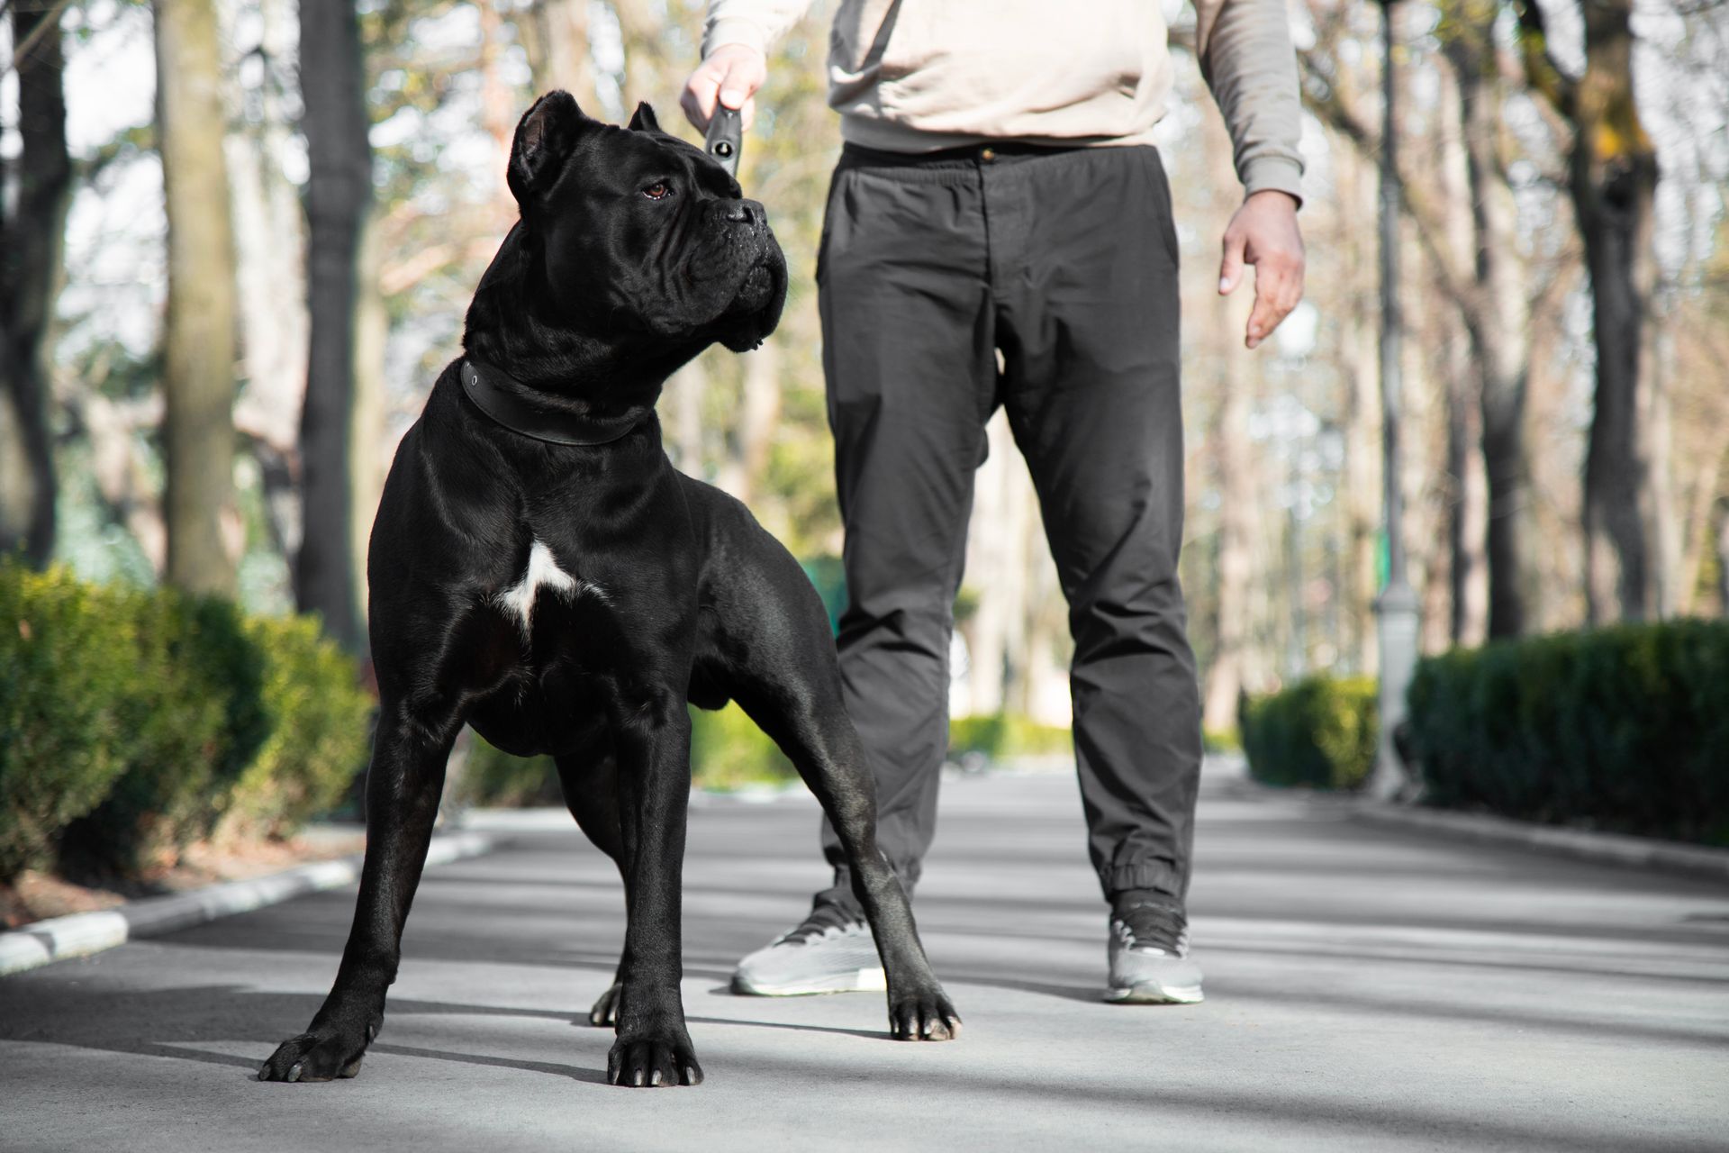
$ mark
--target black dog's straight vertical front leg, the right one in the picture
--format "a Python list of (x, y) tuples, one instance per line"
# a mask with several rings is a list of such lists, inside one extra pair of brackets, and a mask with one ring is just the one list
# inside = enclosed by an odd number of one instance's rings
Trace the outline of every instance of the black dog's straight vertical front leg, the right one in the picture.
[(679, 870), (690, 807), (690, 714), (664, 691), (614, 714), (619, 826), (624, 835), (624, 956), (619, 1039), (607, 1056), (616, 1086), (702, 1084), (679, 980)]

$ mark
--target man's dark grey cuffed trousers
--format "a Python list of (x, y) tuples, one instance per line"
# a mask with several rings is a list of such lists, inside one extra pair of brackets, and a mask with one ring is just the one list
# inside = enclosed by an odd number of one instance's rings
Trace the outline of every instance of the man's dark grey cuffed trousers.
[[(1107, 899), (1181, 899), (1200, 695), (1177, 584), (1177, 240), (1158, 152), (847, 145), (816, 264), (845, 524), (840, 676), (889, 863), (915, 885), (935, 833), (954, 595), (1001, 405), (1069, 598), (1093, 868)], [(818, 901), (852, 904), (826, 823), (823, 847), (837, 875)]]

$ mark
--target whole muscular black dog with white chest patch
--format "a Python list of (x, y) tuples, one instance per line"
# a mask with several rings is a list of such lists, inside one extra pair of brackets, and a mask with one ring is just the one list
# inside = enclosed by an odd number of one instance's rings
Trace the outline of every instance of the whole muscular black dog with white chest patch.
[(552, 754), (577, 825), (619, 866), (629, 927), (591, 1020), (607, 1079), (697, 1084), (679, 999), (686, 700), (737, 700), (823, 802), (889, 977), (896, 1037), (960, 1018), (875, 842), (875, 790), (840, 704), (828, 619), (797, 562), (721, 491), (676, 472), (654, 405), (719, 341), (756, 347), (787, 266), (762, 206), (648, 105), (602, 124), (564, 92), (517, 124), (522, 209), (396, 453), (372, 529), (379, 733), (367, 863), (335, 985), (261, 1080), (353, 1077), (384, 1020), (444, 761), (463, 723)]

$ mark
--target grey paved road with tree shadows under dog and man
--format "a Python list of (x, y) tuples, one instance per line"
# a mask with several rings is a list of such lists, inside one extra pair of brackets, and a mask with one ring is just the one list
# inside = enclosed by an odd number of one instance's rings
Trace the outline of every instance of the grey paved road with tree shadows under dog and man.
[(1729, 1148), (1729, 890), (1352, 823), (1209, 778), (1207, 1003), (1098, 1001), (1062, 776), (944, 785), (916, 911), (967, 1018), (731, 997), (821, 880), (806, 797), (693, 811), (685, 1006), (709, 1082), (603, 1084), (622, 933), (574, 830), (427, 875), (356, 1080), (258, 1084), (334, 973), (337, 890), (0, 978), (5, 1150)]

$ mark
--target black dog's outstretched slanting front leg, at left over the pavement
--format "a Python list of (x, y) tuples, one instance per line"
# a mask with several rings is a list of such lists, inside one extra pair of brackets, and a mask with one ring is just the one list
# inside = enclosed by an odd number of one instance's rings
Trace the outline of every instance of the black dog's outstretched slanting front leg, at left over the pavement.
[(259, 1067), (259, 1080), (330, 1080), (360, 1072), (384, 1023), (384, 994), (396, 980), (403, 923), (425, 866), (458, 728), (458, 717), (417, 714), (401, 702), (379, 709), (367, 771), (367, 859), (335, 985), (308, 1030), (284, 1041)]

